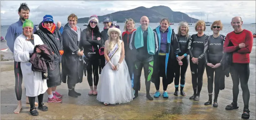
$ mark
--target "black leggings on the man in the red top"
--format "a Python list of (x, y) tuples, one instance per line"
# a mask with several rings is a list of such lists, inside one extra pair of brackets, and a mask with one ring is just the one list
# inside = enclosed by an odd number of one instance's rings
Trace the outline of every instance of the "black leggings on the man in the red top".
[(233, 102), (237, 103), (240, 81), (243, 91), (243, 102), (245, 106), (248, 106), (250, 99), (250, 92), (248, 89), (248, 80), (250, 76), (249, 63), (232, 63), (230, 66), (230, 74), (233, 81)]

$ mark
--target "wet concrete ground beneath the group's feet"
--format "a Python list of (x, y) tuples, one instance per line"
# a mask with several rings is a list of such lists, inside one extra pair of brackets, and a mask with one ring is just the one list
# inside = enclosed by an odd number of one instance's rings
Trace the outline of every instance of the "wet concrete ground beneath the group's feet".
[[(254, 48), (255, 49), (255, 48)], [(250, 80), (248, 82), (250, 90), (250, 119), (255, 120), (255, 51), (251, 54), (250, 63)], [(144, 75), (142, 73), (142, 75)], [(190, 119), (190, 120), (213, 120), (213, 119), (242, 119), (243, 99), (242, 89), (239, 85), (238, 106), (239, 109), (228, 111), (225, 110), (226, 105), (229, 105), (233, 100), (232, 94), (232, 80), (231, 77), (225, 80), (225, 89), (220, 91), (218, 99), (218, 107), (212, 105), (205, 106), (204, 102), (208, 100), (207, 91), (207, 76), (206, 71), (203, 76), (203, 88), (199, 101), (189, 100), (193, 95), (193, 88), (191, 84), (190, 67), (186, 73), (186, 83), (184, 91), (186, 96), (174, 96), (174, 83), (168, 86), (168, 99), (162, 96), (154, 98), (153, 101), (146, 99), (145, 80), (141, 76), (141, 91), (139, 96), (127, 104), (104, 106), (98, 102), (96, 96), (89, 96), (89, 85), (87, 78), (83, 78), (83, 82), (76, 85), (76, 91), (82, 95), (78, 98), (69, 97), (67, 95), (67, 84), (62, 83), (57, 87), (57, 91), (63, 95), (62, 103), (47, 103), (48, 95), (44, 94), (44, 103), (49, 107), (46, 112), (39, 111), (39, 116), (31, 116), (29, 113), (30, 105), (25, 104), (25, 88), (22, 94), (21, 113), (14, 114), (13, 110), (17, 107), (17, 99), (14, 92), (14, 71), (13, 61), (1, 62), (1, 119)], [(151, 83), (150, 93), (153, 96), (155, 93), (155, 86)], [(160, 93), (163, 93), (162, 82), (160, 84)], [(180, 93), (179, 93), (180, 94)], [(37, 101), (37, 98), (36, 98)]]

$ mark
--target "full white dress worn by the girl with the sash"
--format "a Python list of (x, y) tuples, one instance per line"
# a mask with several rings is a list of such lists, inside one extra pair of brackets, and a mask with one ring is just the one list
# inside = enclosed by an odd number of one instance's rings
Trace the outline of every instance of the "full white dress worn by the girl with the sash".
[[(121, 49), (118, 49), (110, 59), (114, 66), (118, 63), (120, 56)], [(125, 59), (120, 64), (118, 71), (112, 70), (109, 63), (104, 66), (97, 91), (97, 100), (107, 104), (122, 104), (133, 100), (134, 93)]]

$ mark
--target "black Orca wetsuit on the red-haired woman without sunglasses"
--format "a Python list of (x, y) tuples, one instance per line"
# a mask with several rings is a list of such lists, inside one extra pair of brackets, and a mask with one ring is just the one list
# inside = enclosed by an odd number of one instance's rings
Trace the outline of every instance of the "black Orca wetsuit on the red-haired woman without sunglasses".
[[(190, 99), (199, 100), (200, 92), (203, 86), (203, 74), (205, 69), (204, 61), (204, 43), (207, 38), (207, 35), (198, 36), (197, 34), (191, 35), (188, 45), (189, 52), (189, 61), (190, 61), (190, 70), (192, 76), (192, 86), (194, 90), (194, 95)], [(198, 58), (198, 64), (192, 62), (192, 58)]]

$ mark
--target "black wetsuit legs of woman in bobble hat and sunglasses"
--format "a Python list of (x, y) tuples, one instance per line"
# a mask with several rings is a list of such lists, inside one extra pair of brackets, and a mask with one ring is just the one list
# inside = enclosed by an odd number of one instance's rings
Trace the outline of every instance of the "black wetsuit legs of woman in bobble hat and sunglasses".
[[(99, 68), (99, 61), (98, 59), (95, 59), (94, 61), (89, 61), (87, 65), (87, 80), (89, 83), (89, 86), (94, 86), (98, 85), (99, 82), (99, 73), (98, 73), (98, 68)], [(93, 73), (93, 79), (92, 79), (92, 73)]]

